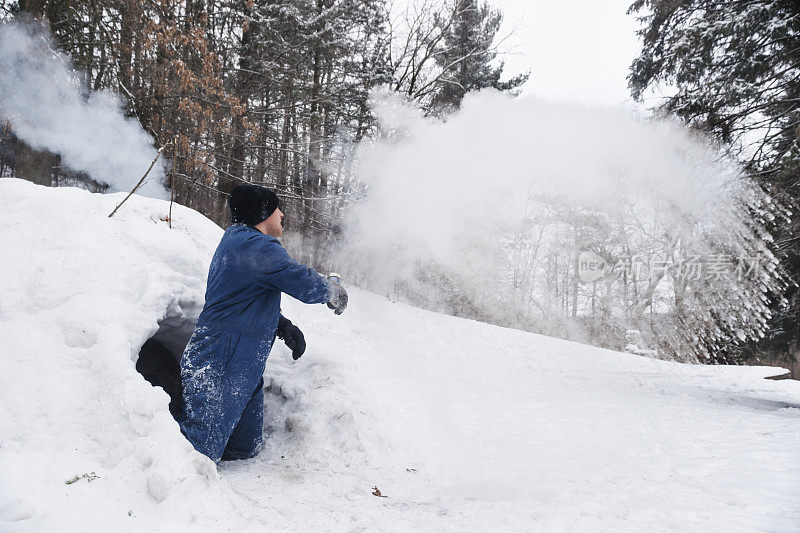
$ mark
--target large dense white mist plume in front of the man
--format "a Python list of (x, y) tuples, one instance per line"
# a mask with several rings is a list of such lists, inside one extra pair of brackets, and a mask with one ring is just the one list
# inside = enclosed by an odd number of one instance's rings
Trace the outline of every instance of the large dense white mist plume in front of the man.
[(629, 109), (485, 91), (446, 122), (383, 92), (373, 110), (384, 135), (359, 153), (368, 194), (351, 231), (362, 244), (413, 243), (447, 262), (465, 236), (529, 216), (532, 198), (607, 213), (645, 202), (702, 223), (731, 216), (742, 193), (738, 169), (714, 146)]

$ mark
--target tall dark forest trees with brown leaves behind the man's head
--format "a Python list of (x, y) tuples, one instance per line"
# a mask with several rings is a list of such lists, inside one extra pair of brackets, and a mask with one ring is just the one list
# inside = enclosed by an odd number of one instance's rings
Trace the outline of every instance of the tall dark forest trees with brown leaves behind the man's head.
[[(170, 143), (175, 200), (221, 225), (246, 181), (278, 190), (291, 229), (335, 231), (376, 86), (446, 114), (468, 91), (527, 79), (500, 80), (502, 14), (477, 0), (399, 13), (386, 0), (0, 0), (0, 13), (48, 27), (87, 94), (122, 95), (156, 144)], [(103, 187), (8, 128), (3, 137), (0, 164), (18, 177)]]

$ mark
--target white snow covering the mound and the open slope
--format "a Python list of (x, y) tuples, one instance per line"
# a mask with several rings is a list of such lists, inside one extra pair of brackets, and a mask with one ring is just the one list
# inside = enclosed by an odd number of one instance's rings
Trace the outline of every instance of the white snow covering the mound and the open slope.
[(800, 383), (776, 369), (352, 287), (342, 316), (284, 297), (308, 350), (276, 345), (265, 449), (216, 469), (134, 364), (185, 339), (221, 230), (140, 197), (108, 219), (122, 196), (0, 180), (2, 531), (800, 529)]

